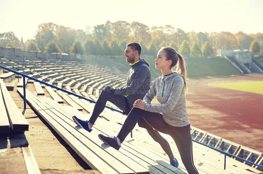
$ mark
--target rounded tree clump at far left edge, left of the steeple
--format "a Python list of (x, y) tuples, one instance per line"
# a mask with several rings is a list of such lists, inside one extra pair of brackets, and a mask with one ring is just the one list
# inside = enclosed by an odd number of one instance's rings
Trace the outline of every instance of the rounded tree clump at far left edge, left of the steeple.
[(0, 33), (0, 46), (1, 47), (22, 47), (21, 42), (19, 41), (19, 39), (16, 37), (16, 35), (10, 31), (7, 33)]

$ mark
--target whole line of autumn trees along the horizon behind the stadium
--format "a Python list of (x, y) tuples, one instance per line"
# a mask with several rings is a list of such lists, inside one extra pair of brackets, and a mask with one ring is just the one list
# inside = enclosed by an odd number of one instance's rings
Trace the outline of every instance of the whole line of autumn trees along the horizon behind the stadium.
[(162, 46), (175, 48), (187, 57), (215, 56), (217, 49), (250, 49), (260, 52), (262, 33), (245, 34), (221, 31), (207, 33), (185, 32), (171, 25), (151, 27), (138, 23), (117, 21), (97, 25), (86, 32), (54, 23), (42, 23), (34, 39), (24, 45), (13, 32), (0, 33), (1, 47), (20, 47), (25, 51), (43, 51), (45, 53), (80, 53), (81, 55), (123, 55), (126, 44), (139, 42), (142, 55), (156, 55)]

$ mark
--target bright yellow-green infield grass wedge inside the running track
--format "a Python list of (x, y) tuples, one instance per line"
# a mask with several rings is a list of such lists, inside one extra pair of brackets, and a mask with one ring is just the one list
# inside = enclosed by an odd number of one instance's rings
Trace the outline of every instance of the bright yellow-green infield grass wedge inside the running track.
[(210, 85), (215, 87), (263, 94), (263, 81), (242, 83), (215, 83)]

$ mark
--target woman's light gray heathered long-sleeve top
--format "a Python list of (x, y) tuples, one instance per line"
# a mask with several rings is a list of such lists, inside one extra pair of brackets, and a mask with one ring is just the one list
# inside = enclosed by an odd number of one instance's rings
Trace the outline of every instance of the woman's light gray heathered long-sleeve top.
[[(150, 104), (154, 96), (161, 105)], [(144, 106), (144, 110), (161, 112), (165, 122), (171, 126), (182, 127), (190, 124), (186, 112), (184, 80), (178, 73), (155, 79), (143, 101), (148, 103)]]

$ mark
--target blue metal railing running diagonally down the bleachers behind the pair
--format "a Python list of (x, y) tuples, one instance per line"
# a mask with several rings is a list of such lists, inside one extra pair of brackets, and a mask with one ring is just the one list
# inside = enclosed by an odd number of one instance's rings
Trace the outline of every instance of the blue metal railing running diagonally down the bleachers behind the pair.
[[(2, 61), (0, 61), (0, 62), (2, 63)], [(80, 96), (80, 95), (74, 94), (74, 93), (72, 93), (72, 92), (66, 91), (66, 90), (64, 90), (64, 89), (62, 89), (62, 88), (59, 88), (59, 87), (56, 87), (56, 86), (54, 86), (54, 85), (50, 85), (50, 84), (48, 84), (48, 83), (46, 83), (46, 82), (37, 80), (37, 79), (35, 79), (35, 78), (33, 78), (33, 77), (30, 77), (30, 76), (27, 76), (27, 75), (25, 75), (25, 74), (23, 74), (23, 73), (19, 73), (19, 72), (17, 72), (17, 71), (12, 70), (12, 69), (6, 68), (5, 66), (0, 65), (0, 68), (6, 69), (6, 70), (11, 71), (11, 72), (13, 72), (13, 73), (15, 73), (15, 74), (18, 74), (18, 75), (20, 75), (20, 76), (23, 76), (24, 108), (26, 108), (25, 77), (27, 77), (28, 79), (31, 79), (31, 80), (35, 80), (35, 81), (37, 81), (37, 82), (39, 82), (39, 83), (43, 83), (43, 84), (45, 84), (45, 85), (47, 85), (47, 86), (53, 87), (53, 88), (55, 88), (55, 89), (57, 89), (57, 90), (66, 92), (66, 93), (68, 93), (68, 94), (72, 94), (72, 95), (74, 95), (74, 96), (76, 96), (76, 97), (78, 97), (78, 98), (83, 98), (83, 99), (85, 99), (85, 100), (87, 100), (87, 101), (90, 101), (90, 102), (92, 102), (92, 103), (96, 103), (96, 102), (93, 101), (93, 100), (90, 100), (90, 99), (87, 99), (87, 98), (85, 98), (85, 97), (83, 97), (83, 96)], [(122, 111), (119, 111), (119, 110), (117, 110), (117, 109), (111, 108), (111, 107), (109, 107), (109, 106), (106, 106), (106, 108), (109, 108), (109, 109), (111, 109), (111, 110), (113, 110), (113, 111), (117, 111), (117, 112), (123, 113)], [(132, 133), (131, 133), (131, 136), (132, 136)], [(212, 147), (212, 146), (209, 146), (209, 145), (207, 145), (207, 144), (201, 143), (201, 142), (199, 142), (199, 141), (197, 141), (197, 140), (192, 140), (192, 141), (194, 141), (194, 142), (196, 142), (196, 143), (198, 143), (198, 144), (202, 144), (202, 145), (204, 145), (204, 146), (206, 146), (206, 147), (209, 147), (209, 148), (211, 148), (211, 149), (213, 149), (213, 150), (219, 151), (220, 153), (224, 154), (224, 169), (226, 169), (226, 156), (230, 156), (230, 157), (233, 157), (233, 158), (242, 160), (242, 161), (244, 161), (244, 162), (247, 162), (247, 163), (249, 163), (249, 164), (251, 164), (251, 165), (255, 165), (255, 166), (258, 166), (258, 167), (262, 167), (262, 168), (263, 168), (262, 165), (258, 165), (258, 164), (254, 163), (254, 162), (245, 160), (245, 159), (240, 158), (240, 157), (238, 157), (238, 156), (235, 156), (235, 155), (232, 155), (232, 154), (227, 153), (227, 152), (225, 152), (225, 151), (219, 150), (219, 149), (214, 148), (214, 147)]]

